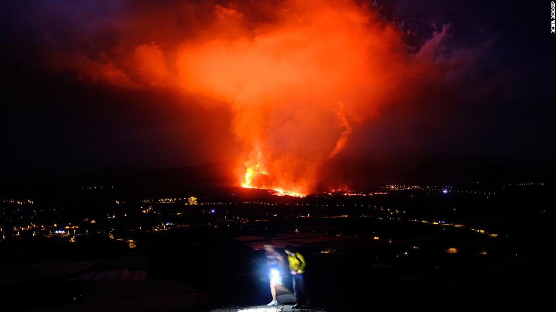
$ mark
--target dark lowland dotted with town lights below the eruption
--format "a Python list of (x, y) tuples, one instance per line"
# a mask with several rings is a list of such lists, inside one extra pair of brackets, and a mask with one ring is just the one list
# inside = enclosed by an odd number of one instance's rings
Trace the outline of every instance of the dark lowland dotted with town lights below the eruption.
[[(549, 298), (553, 187), (383, 186), (305, 198), (60, 187), (32, 203), (3, 202), (0, 293), (8, 310), (264, 310), (261, 248), (271, 242), (305, 256), (311, 311), (540, 304)], [(199, 204), (187, 205), (190, 196)], [(51, 234), (66, 226), (77, 226), (73, 236)]]

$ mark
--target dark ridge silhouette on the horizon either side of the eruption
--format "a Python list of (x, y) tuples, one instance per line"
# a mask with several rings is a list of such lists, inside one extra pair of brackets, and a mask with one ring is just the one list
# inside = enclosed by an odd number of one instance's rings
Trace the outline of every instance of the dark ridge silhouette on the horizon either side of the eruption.
[[(87, 186), (113, 186), (129, 193), (201, 191), (207, 187), (237, 186), (234, 165), (217, 162), (166, 168), (83, 170), (63, 177), (43, 176), (33, 181), (4, 180), (2, 193), (52, 192)], [(552, 182), (554, 163), (426, 150), (351, 150), (325, 163), (317, 191), (336, 187), (376, 190), (386, 184), (500, 186), (512, 182)]]

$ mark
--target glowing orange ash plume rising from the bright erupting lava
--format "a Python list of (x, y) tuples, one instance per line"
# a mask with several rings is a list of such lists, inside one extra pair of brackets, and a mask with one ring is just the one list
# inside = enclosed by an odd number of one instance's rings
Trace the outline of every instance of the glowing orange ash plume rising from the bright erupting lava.
[(307, 194), (358, 125), (384, 106), (410, 101), (419, 81), (434, 75), (431, 59), (442, 38), (417, 57), (403, 33), (368, 6), (264, 3), (265, 21), (247, 18), (249, 5), (215, 5), (209, 23), (175, 44), (149, 40), (128, 53), (103, 53), (98, 62), (66, 55), (56, 67), (93, 83), (177, 89), (226, 103), (242, 147), (237, 185)]

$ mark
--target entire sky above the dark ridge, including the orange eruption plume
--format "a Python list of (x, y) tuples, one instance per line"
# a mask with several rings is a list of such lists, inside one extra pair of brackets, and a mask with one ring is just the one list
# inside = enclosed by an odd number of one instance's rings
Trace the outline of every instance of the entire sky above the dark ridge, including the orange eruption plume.
[[(534, 37), (522, 24), (512, 35), (504, 32), (502, 19), (484, 13), (495, 6), (403, 0), (4, 6), (4, 60), (14, 77), (8, 89), (37, 90), (18, 93), (37, 96), (20, 101), (22, 108), (46, 101), (26, 109), (28, 119), (6, 125), (26, 137), (7, 137), (6, 144), (24, 151), (30, 147), (22, 142), (35, 142), (51, 161), (77, 167), (231, 161), (236, 185), (306, 193), (327, 182), (323, 173), (345, 151), (550, 154), (533, 135), (547, 129), (549, 114), (515, 110), (548, 90), (527, 82), (539, 76), (527, 70), (542, 68), (528, 57), (538, 49), (512, 39)], [(508, 14), (514, 13), (527, 14)], [(26, 122), (46, 130), (25, 130)], [(24, 155), (14, 161), (34, 159)]]

